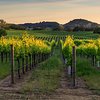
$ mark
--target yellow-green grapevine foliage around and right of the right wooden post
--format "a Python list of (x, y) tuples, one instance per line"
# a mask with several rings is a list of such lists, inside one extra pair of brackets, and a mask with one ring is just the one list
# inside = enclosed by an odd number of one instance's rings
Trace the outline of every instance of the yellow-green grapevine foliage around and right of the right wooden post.
[(73, 39), (71, 36), (67, 36), (65, 42), (61, 40), (62, 52), (68, 65), (71, 65), (72, 61), (72, 46), (76, 46), (77, 56), (90, 57), (93, 59), (93, 64), (100, 61), (100, 39), (87, 40), (87, 39)]

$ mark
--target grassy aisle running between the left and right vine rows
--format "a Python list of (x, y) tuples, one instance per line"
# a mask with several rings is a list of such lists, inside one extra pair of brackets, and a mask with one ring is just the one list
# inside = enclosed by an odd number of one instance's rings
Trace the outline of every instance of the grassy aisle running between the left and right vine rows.
[(38, 65), (31, 78), (22, 87), (22, 92), (48, 93), (55, 91), (60, 85), (63, 64), (60, 47), (54, 49), (54, 54), (45, 62)]

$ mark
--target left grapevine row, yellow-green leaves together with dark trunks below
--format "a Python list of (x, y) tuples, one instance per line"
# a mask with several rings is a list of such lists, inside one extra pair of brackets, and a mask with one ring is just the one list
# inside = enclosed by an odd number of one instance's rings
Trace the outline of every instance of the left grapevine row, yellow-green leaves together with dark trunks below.
[(11, 61), (11, 46), (14, 48), (15, 67), (14, 74), (21, 77), (28, 70), (52, 55), (55, 41), (47, 42), (34, 38), (28, 34), (22, 37), (1, 37), (0, 38), (0, 58), (1, 63)]

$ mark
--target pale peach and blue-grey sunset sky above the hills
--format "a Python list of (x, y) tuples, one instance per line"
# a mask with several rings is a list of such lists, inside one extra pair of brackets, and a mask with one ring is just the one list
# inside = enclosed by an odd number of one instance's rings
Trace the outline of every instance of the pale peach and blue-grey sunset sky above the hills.
[(0, 0), (0, 19), (8, 23), (87, 19), (100, 24), (100, 0)]

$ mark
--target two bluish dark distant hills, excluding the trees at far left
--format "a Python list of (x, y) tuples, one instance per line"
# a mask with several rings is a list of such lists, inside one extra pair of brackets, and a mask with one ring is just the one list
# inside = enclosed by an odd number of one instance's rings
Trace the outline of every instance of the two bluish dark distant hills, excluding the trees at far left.
[[(33, 29), (38, 29), (38, 28), (56, 29), (56, 28), (59, 28), (59, 26), (61, 26), (61, 24), (57, 22), (45, 22), (45, 21), (40, 22), (40, 23), (25, 23), (25, 24), (20, 24), (20, 25), (26, 28), (33, 28)], [(81, 28), (93, 30), (96, 27), (99, 27), (100, 25), (98, 23), (88, 21), (85, 19), (74, 19), (62, 26), (64, 27), (65, 30), (74, 29), (75, 27), (81, 27)]]

